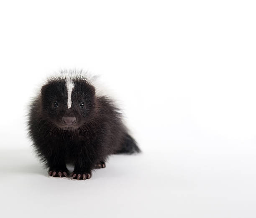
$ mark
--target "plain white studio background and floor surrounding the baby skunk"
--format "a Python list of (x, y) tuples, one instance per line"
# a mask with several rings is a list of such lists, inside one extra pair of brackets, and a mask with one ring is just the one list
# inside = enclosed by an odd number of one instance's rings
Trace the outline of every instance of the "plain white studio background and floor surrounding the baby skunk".
[[(2, 217), (256, 217), (255, 1), (2, 1)], [(123, 108), (143, 153), (90, 181), (47, 177), (26, 106), (84, 69)]]

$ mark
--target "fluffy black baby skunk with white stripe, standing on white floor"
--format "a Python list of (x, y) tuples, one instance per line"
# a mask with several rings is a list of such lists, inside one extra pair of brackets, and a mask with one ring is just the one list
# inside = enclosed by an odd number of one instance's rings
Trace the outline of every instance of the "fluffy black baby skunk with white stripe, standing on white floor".
[(104, 168), (108, 155), (140, 152), (128, 134), (119, 109), (82, 74), (51, 77), (31, 102), (28, 132), (49, 175), (90, 179), (92, 169)]

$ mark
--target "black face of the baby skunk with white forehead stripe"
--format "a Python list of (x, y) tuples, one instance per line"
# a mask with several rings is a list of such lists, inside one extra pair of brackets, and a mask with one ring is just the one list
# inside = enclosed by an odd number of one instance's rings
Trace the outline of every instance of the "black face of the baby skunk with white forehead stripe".
[(95, 88), (82, 79), (53, 79), (41, 89), (45, 118), (62, 129), (87, 122), (95, 107)]

